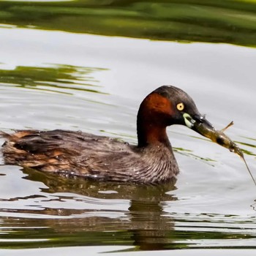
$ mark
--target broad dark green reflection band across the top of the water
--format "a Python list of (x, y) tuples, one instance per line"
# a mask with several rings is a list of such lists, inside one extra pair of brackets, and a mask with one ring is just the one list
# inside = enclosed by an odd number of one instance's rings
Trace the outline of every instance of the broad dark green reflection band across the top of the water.
[(0, 2), (0, 23), (75, 33), (255, 46), (256, 1)]

